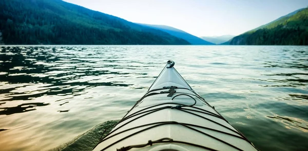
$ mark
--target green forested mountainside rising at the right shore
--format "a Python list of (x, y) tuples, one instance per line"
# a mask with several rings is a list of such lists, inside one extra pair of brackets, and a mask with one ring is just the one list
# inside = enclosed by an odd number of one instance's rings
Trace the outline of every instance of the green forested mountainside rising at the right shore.
[(308, 8), (279, 17), (225, 42), (227, 45), (308, 45)]

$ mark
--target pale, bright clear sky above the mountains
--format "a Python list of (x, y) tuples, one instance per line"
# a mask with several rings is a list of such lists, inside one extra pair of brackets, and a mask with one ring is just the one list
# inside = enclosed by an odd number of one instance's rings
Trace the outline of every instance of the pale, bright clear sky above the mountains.
[(133, 23), (166, 25), (195, 36), (239, 35), (308, 0), (64, 0)]

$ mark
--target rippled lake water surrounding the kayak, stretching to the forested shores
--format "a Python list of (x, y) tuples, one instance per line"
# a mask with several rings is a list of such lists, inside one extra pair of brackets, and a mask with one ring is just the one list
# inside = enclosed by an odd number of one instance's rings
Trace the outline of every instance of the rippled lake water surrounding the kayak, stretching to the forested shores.
[(260, 150), (308, 150), (308, 47), (2, 46), (0, 150), (120, 119), (167, 60)]

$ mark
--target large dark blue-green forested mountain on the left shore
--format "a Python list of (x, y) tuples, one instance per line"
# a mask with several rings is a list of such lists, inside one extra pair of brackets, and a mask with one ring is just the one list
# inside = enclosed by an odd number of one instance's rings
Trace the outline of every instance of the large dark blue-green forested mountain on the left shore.
[(61, 0), (0, 1), (7, 45), (189, 45), (166, 32)]

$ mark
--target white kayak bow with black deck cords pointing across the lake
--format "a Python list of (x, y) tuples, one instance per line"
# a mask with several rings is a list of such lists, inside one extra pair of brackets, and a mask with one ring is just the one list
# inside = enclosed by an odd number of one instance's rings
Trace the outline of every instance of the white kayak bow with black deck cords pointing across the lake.
[(258, 150), (168, 61), (148, 91), (93, 150)]

